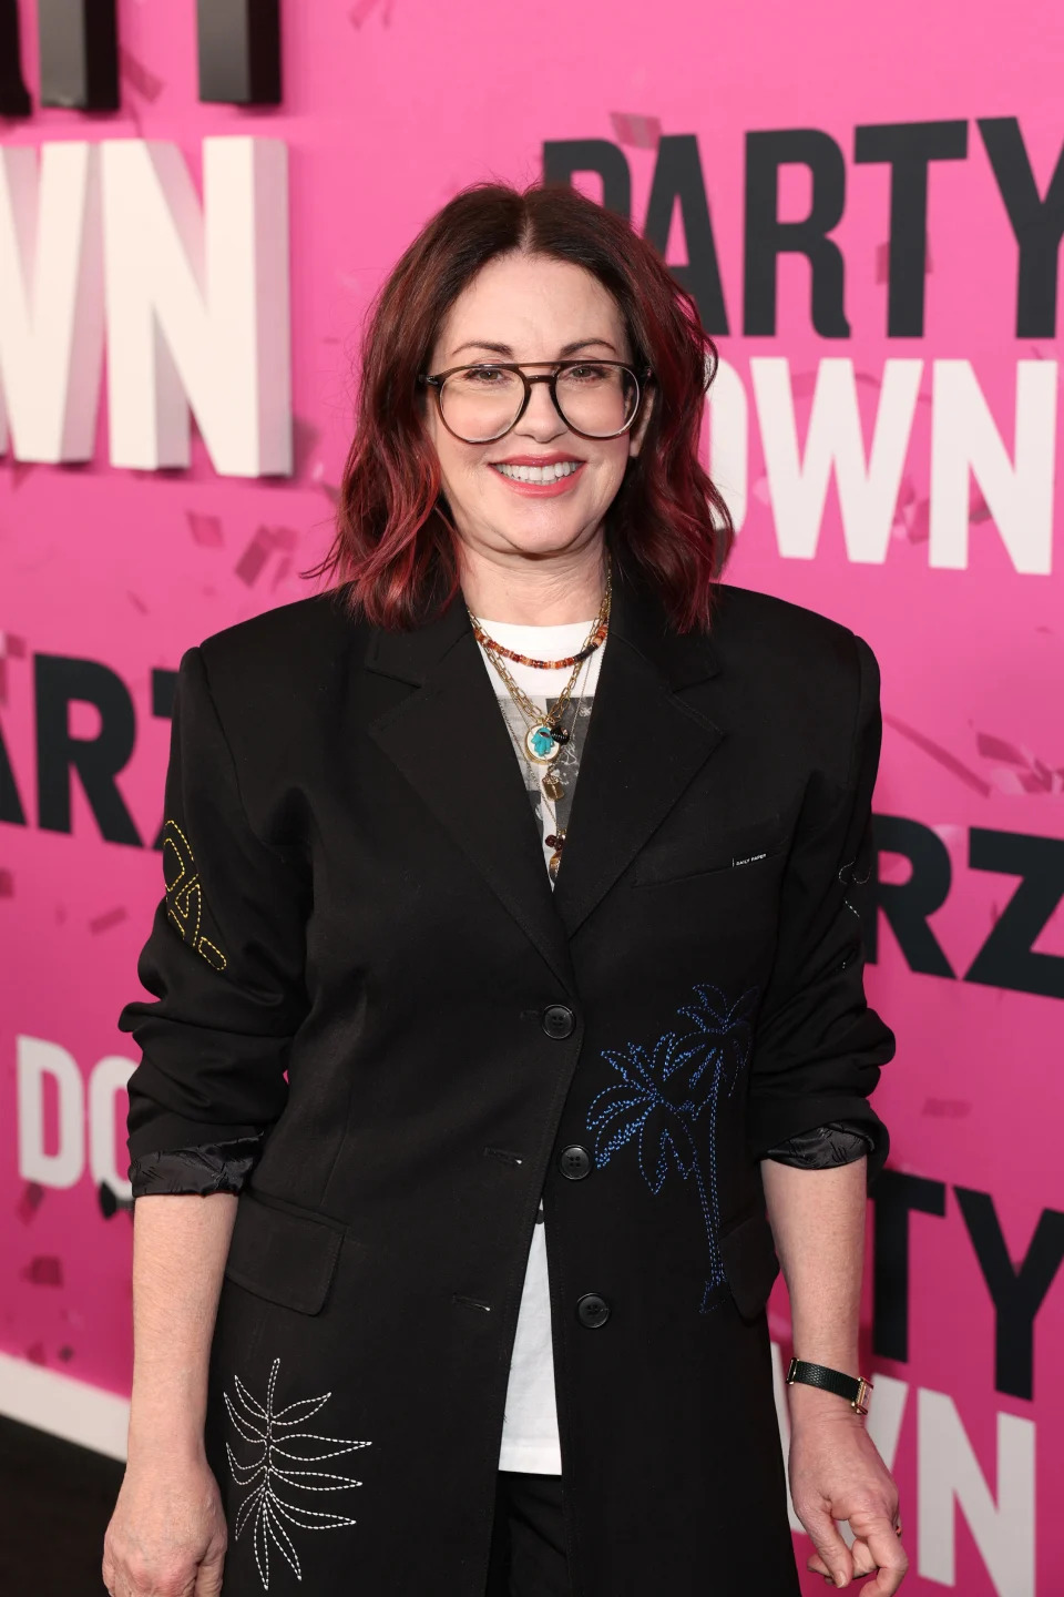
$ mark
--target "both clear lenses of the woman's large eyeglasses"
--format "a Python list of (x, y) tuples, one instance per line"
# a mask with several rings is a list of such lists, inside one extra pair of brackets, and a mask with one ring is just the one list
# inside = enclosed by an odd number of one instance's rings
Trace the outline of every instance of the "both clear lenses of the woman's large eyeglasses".
[[(558, 372), (555, 393), (568, 426), (592, 438), (621, 433), (638, 401), (635, 375), (622, 366), (569, 366)], [(453, 372), (440, 388), (447, 426), (467, 444), (485, 444), (506, 433), (525, 402), (517, 372), (471, 366)]]

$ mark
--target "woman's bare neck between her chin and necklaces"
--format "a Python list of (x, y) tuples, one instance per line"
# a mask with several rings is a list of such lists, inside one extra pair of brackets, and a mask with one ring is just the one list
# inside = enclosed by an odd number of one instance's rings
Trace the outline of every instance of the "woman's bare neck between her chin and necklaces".
[(517, 626), (563, 626), (587, 621), (606, 586), (606, 549), (598, 535), (582, 549), (542, 559), (482, 553), (461, 545), (461, 588), (483, 621)]

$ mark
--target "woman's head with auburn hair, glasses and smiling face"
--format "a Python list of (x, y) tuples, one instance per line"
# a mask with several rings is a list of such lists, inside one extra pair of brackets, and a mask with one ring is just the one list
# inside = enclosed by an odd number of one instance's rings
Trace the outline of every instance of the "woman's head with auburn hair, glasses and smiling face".
[[(380, 292), (337, 538), (308, 575), (404, 626), (464, 585), (463, 551), (547, 562), (554, 588), (560, 559), (565, 599), (544, 610), (541, 589), (514, 620), (565, 623), (595, 610), (608, 524), (675, 623), (703, 624), (732, 538), (697, 450), (715, 367), (694, 302), (627, 222), (562, 185), (474, 185)], [(469, 583), (483, 608), (475, 567)]]

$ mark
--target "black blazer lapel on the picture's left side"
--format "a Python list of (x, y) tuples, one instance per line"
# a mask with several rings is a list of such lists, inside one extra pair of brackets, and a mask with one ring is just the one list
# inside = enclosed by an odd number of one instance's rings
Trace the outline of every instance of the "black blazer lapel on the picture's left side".
[(375, 631), (365, 668), (412, 688), (368, 735), (573, 992), (536, 818), (461, 594), (416, 631)]

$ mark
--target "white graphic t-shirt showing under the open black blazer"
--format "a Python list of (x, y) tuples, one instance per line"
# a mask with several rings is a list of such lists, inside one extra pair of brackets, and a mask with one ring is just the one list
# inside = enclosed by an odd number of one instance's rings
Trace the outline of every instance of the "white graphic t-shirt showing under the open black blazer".
[[(507, 621), (490, 621), (482, 616), (485, 632), (506, 648), (536, 660), (563, 660), (574, 655), (587, 640), (593, 621), (576, 621), (565, 626), (514, 626)], [(487, 652), (480, 650), (499, 699), (499, 707), (510, 728), (514, 757), (525, 770), (525, 787), (530, 803), (542, 829), (544, 840), (565, 827), (573, 803), (573, 787), (579, 768), (584, 733), (592, 712), (592, 695), (598, 682), (600, 645), (581, 666), (573, 698), (562, 717), (562, 727), (569, 731), (569, 741), (550, 765), (538, 765), (523, 754), (523, 738), (528, 720), (514, 704), (509, 690)], [(539, 666), (522, 666), (514, 660), (506, 668), (518, 688), (533, 704), (544, 711), (554, 704), (569, 679), (571, 666), (560, 671), (544, 671)], [(565, 792), (552, 800), (542, 792), (542, 778), (554, 771)], [(544, 842), (544, 867), (554, 854), (554, 845)], [(510, 1380), (506, 1393), (506, 1418), (502, 1423), (502, 1448), (499, 1469), (520, 1469), (530, 1474), (562, 1474), (562, 1450), (558, 1444), (558, 1412), (554, 1396), (554, 1349), (550, 1343), (550, 1292), (547, 1286), (547, 1239), (544, 1234), (542, 1201), (533, 1231), (525, 1287), (517, 1318)]]

